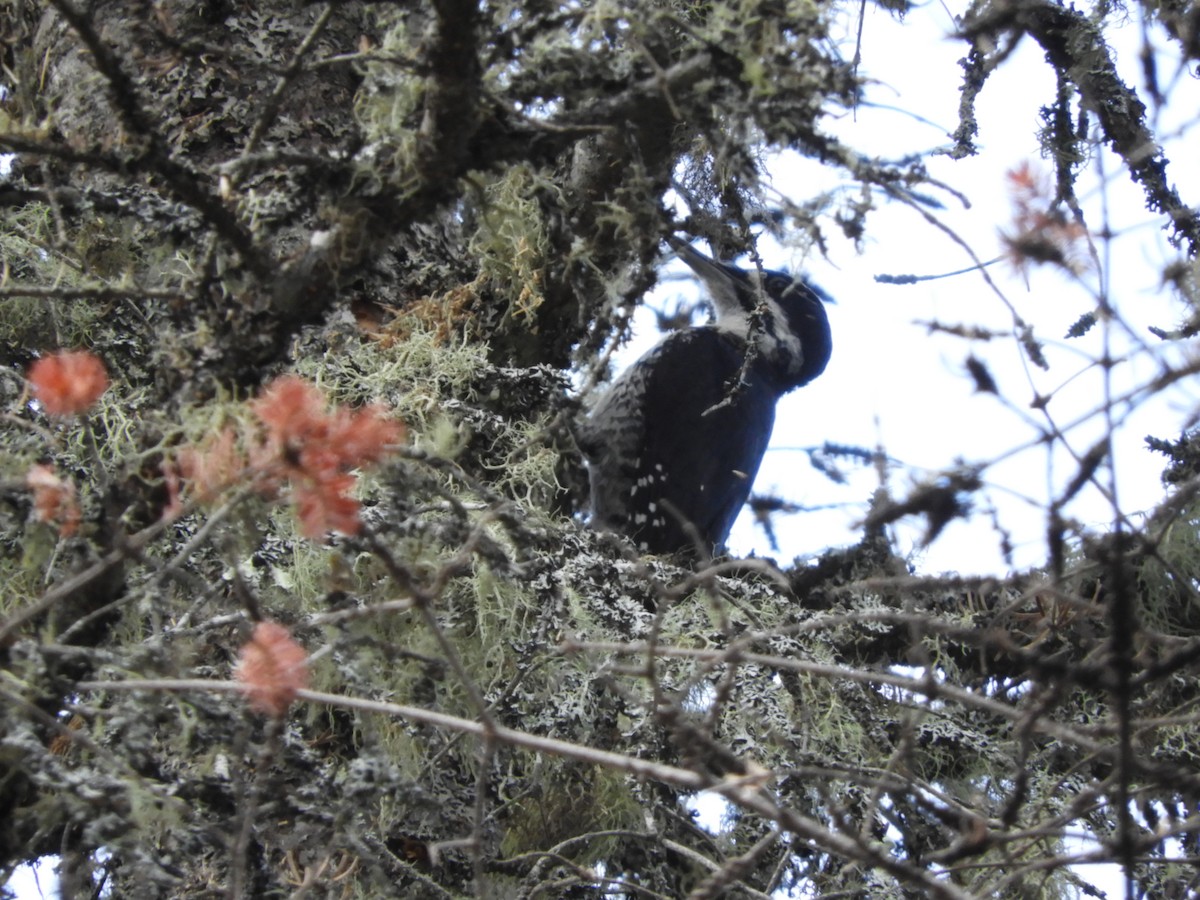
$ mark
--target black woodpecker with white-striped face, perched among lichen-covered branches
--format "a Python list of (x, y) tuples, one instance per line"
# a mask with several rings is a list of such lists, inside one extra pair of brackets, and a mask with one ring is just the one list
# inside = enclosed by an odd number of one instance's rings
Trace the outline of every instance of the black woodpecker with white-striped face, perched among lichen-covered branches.
[(578, 438), (593, 527), (643, 553), (713, 553), (750, 496), (775, 402), (829, 361), (829, 298), (803, 277), (671, 245), (703, 280), (716, 322), (664, 337), (613, 383)]

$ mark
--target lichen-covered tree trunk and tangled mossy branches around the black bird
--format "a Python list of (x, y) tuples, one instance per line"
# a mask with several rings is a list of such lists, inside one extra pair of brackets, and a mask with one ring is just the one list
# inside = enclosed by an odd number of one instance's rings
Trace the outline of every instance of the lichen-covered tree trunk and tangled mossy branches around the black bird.
[[(570, 518), (571, 367), (600, 374), (665, 236), (820, 246), (829, 222), (868, 233), (872, 191), (916, 202), (919, 162), (822, 130), (858, 90), (827, 12), (0, 8), (4, 866), (61, 854), (64, 895), (1057, 896), (1084, 822), (1147, 889), (1170, 881), (1200, 793), (1193, 442), (1159, 443), (1174, 493), (1144, 532), (1067, 547), (1049, 518), (1046, 571), (1004, 580), (913, 576), (886, 538), (967, 515), (967, 468), (782, 569), (638, 559)], [(974, 11), (962, 151), (1015, 31), (1194, 256), (1075, 13)], [(766, 146), (863, 190), (776, 209)], [(108, 367), (86, 415), (26, 402), (59, 347)], [(293, 496), (240, 457), (214, 497), (176, 493), (284, 371), (407, 427), (336, 473), (356, 533), (302, 536), (299, 445), (271, 460)], [(78, 486), (73, 535), (37, 521), (47, 461)], [(310, 653), (282, 719), (228, 683), (259, 619)], [(700, 790), (728, 802), (719, 834), (683, 805)]]

